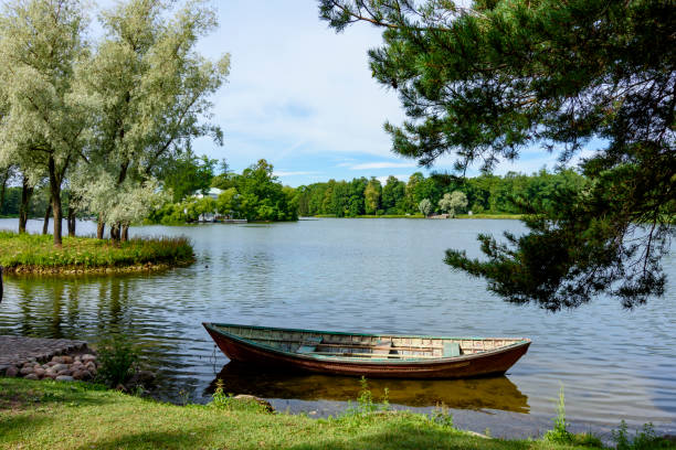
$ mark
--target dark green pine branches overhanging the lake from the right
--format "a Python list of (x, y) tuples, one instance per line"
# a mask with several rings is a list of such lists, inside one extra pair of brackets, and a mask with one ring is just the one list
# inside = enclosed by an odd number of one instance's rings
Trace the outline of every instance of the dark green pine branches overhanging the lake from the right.
[(369, 58), (408, 116), (385, 125), (395, 153), (424, 165), (450, 153), (464, 173), (525, 148), (567, 164), (587, 147), (587, 189), (521, 204), (527, 234), (479, 235), (487, 259), (448, 250), (448, 265), (551, 310), (663, 294), (676, 214), (673, 2), (319, 0), (319, 10), (338, 31), (383, 30)]

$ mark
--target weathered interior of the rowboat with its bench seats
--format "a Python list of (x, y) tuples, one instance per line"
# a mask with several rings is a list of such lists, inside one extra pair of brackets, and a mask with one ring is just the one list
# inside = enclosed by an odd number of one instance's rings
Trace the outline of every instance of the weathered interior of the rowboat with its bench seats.
[(484, 353), (521, 342), (520, 339), (434, 338), (404, 335), (363, 335), (263, 329), (213, 324), (218, 330), (255, 344), (307, 356), (426, 360)]

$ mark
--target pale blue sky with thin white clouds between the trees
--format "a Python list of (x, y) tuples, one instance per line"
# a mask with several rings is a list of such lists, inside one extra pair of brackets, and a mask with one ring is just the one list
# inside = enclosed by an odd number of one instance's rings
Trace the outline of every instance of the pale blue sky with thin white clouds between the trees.
[[(356, 176), (405, 181), (413, 172), (430, 172), (392, 153), (383, 130), (385, 121), (401, 124), (404, 114), (397, 93), (379, 85), (368, 67), (367, 51), (382, 43), (378, 29), (358, 23), (337, 34), (319, 20), (316, 0), (213, 4), (220, 26), (198, 51), (210, 58), (231, 54), (228, 83), (212, 98), (211, 121), (225, 139), (223, 147), (198, 139), (198, 154), (224, 158), (235, 172), (264, 158), (292, 186)], [(496, 173), (554, 164), (556, 156), (527, 149)], [(432, 170), (452, 170), (452, 159)]]

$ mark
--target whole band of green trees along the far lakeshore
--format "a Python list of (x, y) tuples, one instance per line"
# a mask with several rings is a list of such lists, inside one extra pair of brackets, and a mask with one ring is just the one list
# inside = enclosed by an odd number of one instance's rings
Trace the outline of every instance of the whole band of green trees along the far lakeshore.
[[(531, 175), (482, 174), (461, 179), (445, 174), (413, 173), (408, 182), (389, 176), (384, 185), (376, 178), (351, 181), (329, 180), (299, 188), (284, 186), (273, 174), (273, 165), (260, 160), (241, 174), (228, 163), (187, 152), (162, 173), (167, 199), (147, 215), (161, 224), (196, 222), (218, 214), (250, 221), (295, 221), (298, 216), (455, 214), (519, 214), (538, 207), (552, 207), (561, 192), (579, 192), (587, 179), (573, 170)], [(0, 180), (1, 181), (1, 180)], [(222, 192), (208, 195), (211, 188)], [(17, 216), (21, 211), (22, 188), (6, 188), (0, 215)], [(70, 193), (65, 191), (67, 205)], [(49, 207), (47, 186), (38, 186), (28, 215), (41, 217)]]

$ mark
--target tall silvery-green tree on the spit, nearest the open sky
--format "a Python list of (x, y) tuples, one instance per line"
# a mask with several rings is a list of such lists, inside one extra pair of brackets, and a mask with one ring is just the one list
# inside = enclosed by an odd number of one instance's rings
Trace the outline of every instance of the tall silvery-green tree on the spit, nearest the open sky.
[[(220, 129), (203, 120), (230, 58), (225, 54), (212, 62), (196, 51), (198, 40), (216, 26), (215, 15), (205, 1), (188, 2), (173, 15), (166, 6), (161, 0), (129, 0), (105, 11), (106, 34), (83, 69), (83, 90), (97, 109), (91, 164), (113, 174), (114, 189), (123, 193), (136, 192), (129, 183), (139, 189), (152, 184), (162, 165), (188, 150), (193, 139), (222, 141)], [(80, 191), (85, 203), (105, 204), (92, 197), (101, 190), (85, 185)], [(94, 212), (99, 214), (101, 238), (106, 214)], [(126, 238), (129, 221), (110, 225), (114, 239)]]

